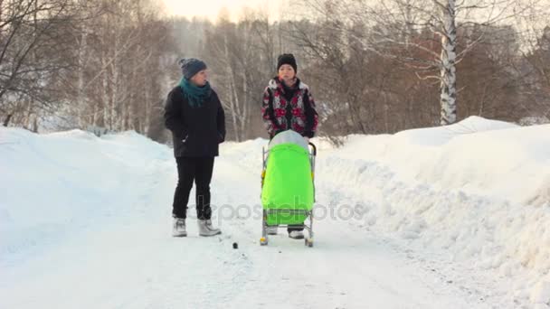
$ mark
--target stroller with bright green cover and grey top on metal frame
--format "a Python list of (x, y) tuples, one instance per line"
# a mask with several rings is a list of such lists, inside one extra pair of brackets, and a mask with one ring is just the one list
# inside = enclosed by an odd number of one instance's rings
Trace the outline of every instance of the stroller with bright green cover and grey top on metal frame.
[(316, 146), (292, 130), (274, 136), (267, 150), (262, 148), (261, 246), (269, 242), (268, 228), (301, 225), (308, 230), (305, 245), (313, 247), (316, 155)]

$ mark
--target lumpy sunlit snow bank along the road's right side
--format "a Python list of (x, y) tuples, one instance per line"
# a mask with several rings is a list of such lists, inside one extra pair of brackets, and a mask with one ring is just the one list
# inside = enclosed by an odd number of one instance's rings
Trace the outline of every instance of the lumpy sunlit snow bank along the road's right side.
[(510, 298), (550, 303), (549, 125), (470, 117), (351, 136), (320, 155), (318, 179), (320, 190), (347, 192), (344, 203), (363, 205), (366, 229), (511, 279)]

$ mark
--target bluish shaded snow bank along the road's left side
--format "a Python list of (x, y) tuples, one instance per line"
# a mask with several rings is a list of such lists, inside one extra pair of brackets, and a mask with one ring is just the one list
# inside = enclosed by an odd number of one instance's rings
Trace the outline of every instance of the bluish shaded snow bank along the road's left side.
[(2, 262), (40, 254), (67, 233), (124, 213), (146, 190), (136, 171), (156, 173), (170, 157), (165, 145), (135, 132), (99, 138), (0, 128), (0, 255), (10, 254)]

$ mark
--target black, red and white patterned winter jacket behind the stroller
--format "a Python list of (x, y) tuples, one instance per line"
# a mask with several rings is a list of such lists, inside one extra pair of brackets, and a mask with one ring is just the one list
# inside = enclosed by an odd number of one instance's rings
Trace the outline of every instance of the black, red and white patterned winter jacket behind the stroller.
[(302, 136), (315, 136), (318, 126), (315, 102), (308, 85), (299, 79), (293, 89), (286, 87), (277, 77), (270, 80), (263, 92), (261, 113), (270, 137), (288, 129)]

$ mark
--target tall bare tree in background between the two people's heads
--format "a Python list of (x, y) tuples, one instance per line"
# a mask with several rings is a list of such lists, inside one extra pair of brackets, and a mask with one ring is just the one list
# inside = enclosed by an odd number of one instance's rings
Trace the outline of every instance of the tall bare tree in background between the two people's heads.
[(273, 57), (272, 53), (262, 53), (272, 52), (272, 39), (261, 35), (264, 26), (253, 21), (250, 15), (245, 15), (239, 23), (231, 23), (222, 15), (207, 35), (206, 49), (209, 63), (213, 64), (213, 80), (229, 113), (229, 132), (237, 141), (252, 136), (251, 120), (261, 118), (261, 93), (270, 76), (265, 69)]

